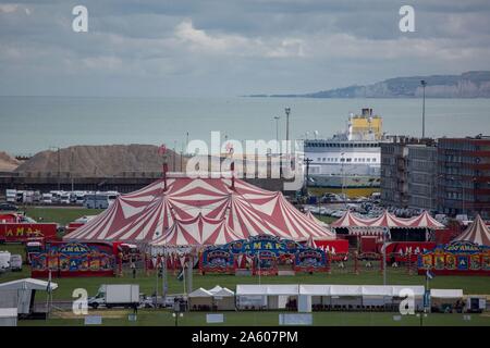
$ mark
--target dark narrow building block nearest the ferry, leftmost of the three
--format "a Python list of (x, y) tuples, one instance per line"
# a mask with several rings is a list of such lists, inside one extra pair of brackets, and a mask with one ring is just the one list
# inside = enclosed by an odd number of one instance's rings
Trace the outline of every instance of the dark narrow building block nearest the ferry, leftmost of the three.
[(381, 144), (381, 201), (384, 206), (408, 208), (411, 206), (409, 147), (431, 145), (433, 139), (404, 136), (395, 136), (391, 139), (391, 142)]

